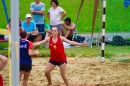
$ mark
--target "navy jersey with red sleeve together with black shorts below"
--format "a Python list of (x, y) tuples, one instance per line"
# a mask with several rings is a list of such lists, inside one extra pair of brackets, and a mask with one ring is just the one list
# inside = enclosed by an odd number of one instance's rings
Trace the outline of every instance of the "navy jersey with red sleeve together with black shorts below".
[(28, 40), (20, 40), (20, 71), (29, 72), (32, 69), (32, 59), (28, 50), (32, 50), (33, 43)]

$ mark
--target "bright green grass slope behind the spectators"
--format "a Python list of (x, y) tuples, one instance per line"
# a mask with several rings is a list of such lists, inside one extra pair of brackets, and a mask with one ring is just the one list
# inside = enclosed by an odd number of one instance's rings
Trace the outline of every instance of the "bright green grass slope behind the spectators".
[[(10, 14), (10, 0), (5, 0), (7, 4), (8, 13)], [(26, 13), (30, 13), (30, 3), (34, 0), (20, 0), (20, 18), (25, 20)], [(60, 6), (67, 12), (68, 17), (72, 18), (72, 22), (76, 22), (77, 12), (80, 5), (81, 0), (59, 0)], [(93, 17), (93, 7), (95, 0), (85, 0), (80, 18), (78, 21), (77, 31), (78, 33), (91, 33), (92, 28), (92, 17)], [(106, 9), (106, 32), (130, 32), (130, 7), (124, 8), (123, 1), (124, 0), (111, 0), (112, 4), (110, 5), (110, 0), (107, 1), (107, 9)], [(41, 0), (46, 5), (45, 10), (45, 19), (47, 23), (49, 20), (47, 18), (47, 11), (51, 7), (50, 0)], [(0, 28), (5, 28), (6, 19), (2, 6), (2, 2), (0, 1)], [(99, 8), (100, 9), (100, 5)], [(99, 28), (99, 14), (100, 11), (97, 12), (96, 24), (94, 32), (98, 32)], [(101, 21), (101, 19), (100, 19)]]

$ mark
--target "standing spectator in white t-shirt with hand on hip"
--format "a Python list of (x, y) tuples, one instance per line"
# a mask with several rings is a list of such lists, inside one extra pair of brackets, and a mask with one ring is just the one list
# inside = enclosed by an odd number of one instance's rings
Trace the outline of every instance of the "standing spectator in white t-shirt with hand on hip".
[(48, 18), (50, 20), (50, 26), (58, 27), (60, 34), (62, 35), (62, 19), (65, 17), (66, 12), (59, 7), (58, 0), (51, 0), (50, 4), (52, 7), (48, 10)]

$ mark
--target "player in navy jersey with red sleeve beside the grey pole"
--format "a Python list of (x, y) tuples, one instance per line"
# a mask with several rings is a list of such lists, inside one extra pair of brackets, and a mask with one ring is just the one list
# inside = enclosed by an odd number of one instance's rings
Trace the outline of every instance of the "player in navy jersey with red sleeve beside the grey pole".
[(25, 31), (20, 33), (20, 37), (20, 81), (23, 75), (22, 86), (27, 86), (28, 78), (32, 70), (31, 56), (38, 56), (38, 53), (32, 51), (33, 43), (27, 40), (27, 33)]

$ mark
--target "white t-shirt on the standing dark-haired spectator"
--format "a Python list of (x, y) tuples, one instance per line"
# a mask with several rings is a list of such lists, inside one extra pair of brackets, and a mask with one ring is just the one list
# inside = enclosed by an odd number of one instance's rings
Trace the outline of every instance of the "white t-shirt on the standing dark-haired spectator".
[(64, 12), (64, 10), (61, 7), (57, 7), (56, 9), (51, 7), (48, 10), (48, 13), (50, 13), (50, 25), (62, 24), (62, 21), (60, 20), (62, 12)]

